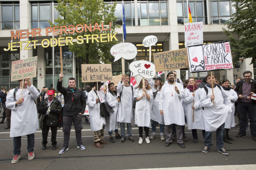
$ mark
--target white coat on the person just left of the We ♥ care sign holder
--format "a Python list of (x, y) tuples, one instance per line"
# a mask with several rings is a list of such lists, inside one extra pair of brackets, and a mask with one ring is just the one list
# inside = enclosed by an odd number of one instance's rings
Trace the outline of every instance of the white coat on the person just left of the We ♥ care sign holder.
[[(133, 89), (134, 91), (134, 89)], [(133, 94), (132, 88), (130, 86), (122, 86), (121, 81), (117, 85), (117, 92), (121, 94), (121, 100), (118, 104), (117, 122), (120, 123), (132, 123), (132, 103)]]

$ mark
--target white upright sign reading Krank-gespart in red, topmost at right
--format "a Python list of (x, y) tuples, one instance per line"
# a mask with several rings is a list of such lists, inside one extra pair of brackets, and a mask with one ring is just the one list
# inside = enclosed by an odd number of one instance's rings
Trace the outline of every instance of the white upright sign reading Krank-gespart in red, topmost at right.
[(203, 44), (203, 22), (185, 23), (185, 47)]

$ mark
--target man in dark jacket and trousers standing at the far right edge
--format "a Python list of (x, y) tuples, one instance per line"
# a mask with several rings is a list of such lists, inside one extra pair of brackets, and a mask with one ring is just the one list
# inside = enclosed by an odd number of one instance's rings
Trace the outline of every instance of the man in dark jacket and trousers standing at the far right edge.
[(252, 79), (251, 71), (245, 71), (243, 75), (244, 79), (239, 81), (235, 88), (238, 95), (237, 103), (240, 116), (240, 132), (236, 137), (246, 136), (246, 115), (248, 112), (252, 139), (256, 141), (256, 100), (250, 99), (250, 96), (256, 93), (256, 80)]

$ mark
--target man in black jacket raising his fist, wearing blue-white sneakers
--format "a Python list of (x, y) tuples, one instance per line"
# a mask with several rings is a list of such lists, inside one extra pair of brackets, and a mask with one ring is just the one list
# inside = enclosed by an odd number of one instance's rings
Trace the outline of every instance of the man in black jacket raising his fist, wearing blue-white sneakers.
[(62, 86), (63, 73), (60, 73), (60, 79), (57, 82), (57, 90), (64, 96), (64, 107), (63, 107), (63, 132), (64, 141), (63, 148), (59, 154), (63, 154), (68, 150), (68, 142), (70, 136), (70, 130), (72, 122), (74, 123), (76, 132), (77, 147), (84, 150), (85, 147), (82, 145), (82, 114), (84, 113), (86, 101), (83, 95), (83, 91), (77, 89), (76, 80), (73, 77), (68, 79), (68, 87)]

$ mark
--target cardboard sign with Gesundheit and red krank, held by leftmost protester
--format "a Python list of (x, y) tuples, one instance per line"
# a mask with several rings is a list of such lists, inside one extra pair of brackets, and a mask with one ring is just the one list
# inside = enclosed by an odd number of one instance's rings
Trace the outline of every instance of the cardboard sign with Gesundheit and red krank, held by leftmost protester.
[(12, 62), (11, 82), (37, 76), (37, 56)]

